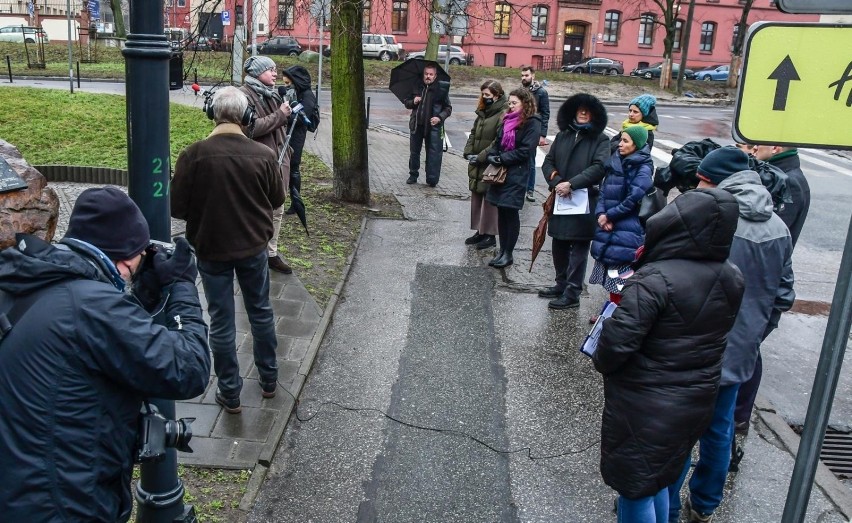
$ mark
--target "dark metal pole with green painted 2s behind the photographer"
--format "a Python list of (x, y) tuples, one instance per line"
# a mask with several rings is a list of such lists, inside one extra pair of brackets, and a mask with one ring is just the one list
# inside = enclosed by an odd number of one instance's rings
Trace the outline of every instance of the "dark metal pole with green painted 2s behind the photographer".
[[(169, 59), (163, 34), (163, 0), (131, 2), (127, 44), (122, 50), (127, 77), (127, 156), (130, 197), (148, 221), (151, 237), (171, 241), (169, 213)], [(168, 419), (175, 402), (151, 400)], [(160, 462), (143, 463), (136, 484), (136, 521), (195, 521), (192, 506), (183, 504), (183, 483), (177, 476), (177, 452), (166, 450)]]

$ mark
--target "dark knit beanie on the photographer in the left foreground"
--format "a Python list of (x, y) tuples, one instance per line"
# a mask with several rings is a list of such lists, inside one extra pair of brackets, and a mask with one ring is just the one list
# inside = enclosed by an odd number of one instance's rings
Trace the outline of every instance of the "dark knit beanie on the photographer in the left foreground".
[(91, 243), (110, 260), (129, 260), (151, 243), (142, 211), (116, 187), (86, 189), (74, 203), (66, 238)]

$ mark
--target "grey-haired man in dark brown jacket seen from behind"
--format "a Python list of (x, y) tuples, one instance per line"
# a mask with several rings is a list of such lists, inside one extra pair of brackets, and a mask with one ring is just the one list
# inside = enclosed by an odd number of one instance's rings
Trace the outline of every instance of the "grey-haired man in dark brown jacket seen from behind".
[(247, 138), (240, 122), (250, 111), (236, 87), (213, 97), (216, 127), (178, 156), (171, 185), (172, 216), (186, 220), (210, 314), (210, 349), (219, 380), (216, 402), (241, 411), (243, 380), (237, 362), (234, 273), (240, 284), (254, 343), (254, 363), (264, 398), (275, 396), (278, 364), (275, 318), (269, 304), (266, 246), (272, 213), (284, 204), (284, 180), (269, 147)]

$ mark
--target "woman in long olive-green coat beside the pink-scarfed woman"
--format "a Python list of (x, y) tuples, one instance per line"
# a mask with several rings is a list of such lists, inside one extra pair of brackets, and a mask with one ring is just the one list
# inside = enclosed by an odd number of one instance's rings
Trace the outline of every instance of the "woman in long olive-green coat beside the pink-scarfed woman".
[(485, 201), (488, 185), (482, 173), (488, 167), (488, 147), (497, 136), (503, 113), (506, 112), (506, 94), (499, 82), (487, 80), (479, 88), (482, 92), (476, 107), (476, 121), (464, 146), (464, 157), (469, 166), (467, 176), (470, 186), (470, 228), (476, 233), (464, 242), (477, 249), (487, 249), (496, 244), (497, 207)]

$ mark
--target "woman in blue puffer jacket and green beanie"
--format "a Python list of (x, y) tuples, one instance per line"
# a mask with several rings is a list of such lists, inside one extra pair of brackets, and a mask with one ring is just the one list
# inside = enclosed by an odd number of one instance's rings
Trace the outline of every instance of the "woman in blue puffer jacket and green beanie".
[[(648, 131), (634, 125), (621, 133), (618, 151), (606, 167), (606, 177), (595, 215), (598, 229), (592, 240), (595, 267), (589, 283), (600, 283), (609, 291), (610, 301), (621, 301), (625, 272), (636, 259), (636, 249), (645, 241), (639, 221), (642, 197), (651, 187), (654, 163), (647, 145)], [(623, 276), (623, 277), (619, 277)]]

